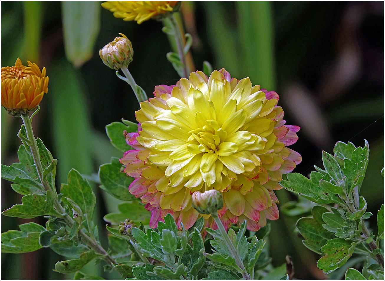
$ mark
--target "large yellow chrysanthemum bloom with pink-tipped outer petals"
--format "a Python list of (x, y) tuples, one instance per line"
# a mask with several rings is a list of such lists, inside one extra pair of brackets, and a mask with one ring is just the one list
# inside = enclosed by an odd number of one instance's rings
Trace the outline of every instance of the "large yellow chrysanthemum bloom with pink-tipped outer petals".
[(300, 128), (285, 125), (278, 94), (221, 69), (210, 77), (193, 72), (176, 85), (155, 87), (154, 95), (141, 102), (139, 132), (126, 135), (134, 150), (121, 159), (135, 178), (130, 192), (151, 211), (150, 227), (171, 213), (178, 227), (203, 216), (217, 228), (210, 214), (191, 207), (195, 191), (211, 189), (223, 195), (218, 215), (225, 227), (246, 219), (256, 231), (277, 219), (274, 190), (301, 162), (287, 148)]

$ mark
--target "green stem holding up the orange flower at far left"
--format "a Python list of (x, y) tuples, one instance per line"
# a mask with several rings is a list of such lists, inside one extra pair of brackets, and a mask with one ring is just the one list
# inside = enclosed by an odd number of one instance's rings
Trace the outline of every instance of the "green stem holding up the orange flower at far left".
[[(28, 115), (21, 115), (21, 117), (23, 119), (25, 131), (27, 132), (28, 146), (31, 148), (33, 162), (35, 162), (36, 170), (39, 175), (40, 181), (42, 182), (43, 188), (47, 192), (51, 190), (51, 187), (47, 179), (43, 179), (43, 166), (42, 166), (42, 162), (40, 161), (39, 148), (37, 147), (37, 142), (36, 142), (35, 136), (33, 135), (31, 119), (29, 118)], [(52, 190), (52, 192), (54, 192), (54, 194), (57, 195), (56, 190)], [(64, 219), (64, 221), (67, 223), (69, 227), (72, 227), (75, 221), (69, 215), (65, 214), (64, 208), (57, 201), (57, 196), (54, 196), (54, 199), (55, 199), (55, 202), (54, 202), (55, 210), (59, 212), (59, 214), (62, 214), (62, 219)], [(96, 253), (104, 255), (105, 256), (104, 259), (108, 263), (116, 263), (116, 261), (113, 258), (111, 258), (111, 256), (107, 254), (107, 252), (101, 246), (99, 246), (96, 241), (92, 240), (82, 230), (79, 230), (79, 235), (81, 236), (82, 241), (84, 241), (84, 243), (87, 244), (87, 246), (89, 246), (90, 249), (94, 250)]]

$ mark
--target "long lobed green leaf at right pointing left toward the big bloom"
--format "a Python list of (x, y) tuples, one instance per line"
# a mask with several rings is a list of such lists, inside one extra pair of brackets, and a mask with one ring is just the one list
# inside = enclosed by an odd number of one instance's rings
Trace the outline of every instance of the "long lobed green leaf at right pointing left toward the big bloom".
[(320, 204), (341, 203), (337, 194), (330, 194), (319, 186), (319, 181), (324, 177), (319, 172), (311, 172), (310, 179), (298, 173), (287, 174), (287, 177), (288, 181), (280, 181), (280, 185), (291, 192)]

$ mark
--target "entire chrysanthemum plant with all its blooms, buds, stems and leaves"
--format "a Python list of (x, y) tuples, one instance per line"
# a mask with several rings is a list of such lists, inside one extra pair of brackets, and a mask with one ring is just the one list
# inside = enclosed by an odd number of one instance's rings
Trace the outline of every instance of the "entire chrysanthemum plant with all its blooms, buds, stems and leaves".
[[(20, 225), (20, 231), (2, 233), (2, 253), (49, 247), (68, 258), (55, 270), (75, 273), (75, 279), (99, 279), (80, 271), (92, 260), (104, 260), (105, 270), (129, 280), (248, 280), (277, 274), (291, 279), (290, 258), (287, 271), (273, 268), (267, 246), (267, 220), (279, 217), (274, 190), (284, 187), (306, 198), (302, 200), (321, 204), (306, 204), (313, 206), (312, 217), (296, 224), (303, 244), (322, 255), (320, 269), (331, 273), (357, 254), (366, 257), (362, 273), (350, 268), (346, 279), (383, 279), (384, 206), (378, 211), (375, 236), (365, 224), (372, 214), (359, 196), (368, 164), (367, 143), (356, 148), (338, 142), (334, 156), (323, 152), (324, 170), (316, 167), (310, 179), (291, 174), (301, 162), (301, 156), (288, 148), (298, 139), (299, 127), (285, 124), (278, 94), (253, 86), (248, 78), (232, 78), (224, 69), (212, 71), (208, 63), (203, 72), (190, 73), (186, 54), (191, 37), (185, 35), (184, 44), (173, 14), (180, 3), (102, 5), (124, 20), (162, 20), (178, 50), (167, 57), (184, 78), (176, 85), (156, 86), (154, 97), (147, 99), (128, 70), (133, 49), (125, 35), (99, 52), (103, 62), (131, 85), (141, 105), (138, 124), (122, 119), (106, 126), (122, 158), (112, 157), (111, 163), (100, 166), (100, 188), (126, 202), (118, 206), (120, 213), (104, 216), (110, 224), (109, 248), (104, 249), (92, 221), (95, 195), (89, 183), (72, 169), (59, 192), (58, 161), (33, 135), (32, 118), (48, 91), (45, 69), (30, 62), (25, 67), (19, 59), (14, 67), (2, 68), (1, 103), (24, 123), (18, 133), (20, 162), (1, 166), (2, 178), (13, 182), (22, 204), (2, 214), (47, 219), (45, 226), (30, 222)], [(287, 180), (282, 181), (284, 174)]]

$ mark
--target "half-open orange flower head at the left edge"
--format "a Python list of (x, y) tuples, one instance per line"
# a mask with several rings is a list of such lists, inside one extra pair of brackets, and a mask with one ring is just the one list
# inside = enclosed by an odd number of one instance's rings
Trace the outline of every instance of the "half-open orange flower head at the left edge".
[(28, 66), (24, 66), (17, 59), (15, 66), (1, 68), (1, 105), (10, 114), (26, 114), (47, 94), (48, 80), (45, 67), (40, 71), (37, 64), (28, 61)]

